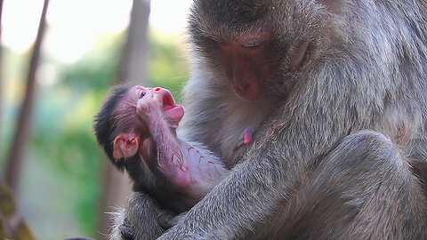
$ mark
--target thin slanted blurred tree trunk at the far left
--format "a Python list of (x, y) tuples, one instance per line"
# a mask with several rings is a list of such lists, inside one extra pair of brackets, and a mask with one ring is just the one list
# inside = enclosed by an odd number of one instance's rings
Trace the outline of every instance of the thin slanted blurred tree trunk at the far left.
[(12, 147), (7, 159), (6, 181), (15, 194), (18, 194), (20, 172), (23, 162), (23, 156), (28, 144), (30, 133), (30, 119), (36, 92), (36, 69), (40, 59), (40, 49), (44, 37), (45, 19), (49, 0), (44, 0), (43, 12), (38, 26), (36, 42), (29, 62), (27, 89), (25, 91), (24, 101), (20, 108), (18, 124), (16, 126)]

